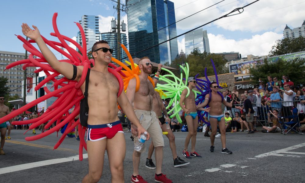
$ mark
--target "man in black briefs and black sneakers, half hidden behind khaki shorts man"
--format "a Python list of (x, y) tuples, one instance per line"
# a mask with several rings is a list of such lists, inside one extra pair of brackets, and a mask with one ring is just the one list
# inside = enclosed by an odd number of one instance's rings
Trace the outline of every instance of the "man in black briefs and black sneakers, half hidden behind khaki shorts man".
[[(168, 132), (168, 134), (166, 136), (169, 140), (170, 150), (171, 150), (173, 158), (174, 158), (174, 167), (181, 167), (184, 165), (188, 165), (189, 162), (185, 162), (184, 160), (181, 160), (179, 156), (177, 156), (175, 136), (174, 136), (173, 132), (171, 131), (171, 129), (166, 128), (166, 124), (165, 124), (165, 120), (168, 121), (168, 124), (170, 123), (170, 118), (167, 114), (167, 111), (166, 111), (166, 108), (165, 108), (163, 102), (161, 101), (160, 94), (157, 91), (155, 91), (155, 93), (153, 95), (152, 110), (156, 113), (157, 117), (159, 118), (159, 120), (161, 122), (162, 131)], [(163, 115), (166, 117), (166, 119), (163, 117), (162, 112), (163, 112)], [(156, 166), (154, 165), (154, 163), (152, 162), (152, 159), (151, 159), (153, 150), (154, 150), (154, 146), (153, 146), (153, 142), (152, 142), (148, 148), (148, 156), (146, 158), (146, 165), (145, 165), (145, 167), (147, 167), (149, 169), (156, 169)]]

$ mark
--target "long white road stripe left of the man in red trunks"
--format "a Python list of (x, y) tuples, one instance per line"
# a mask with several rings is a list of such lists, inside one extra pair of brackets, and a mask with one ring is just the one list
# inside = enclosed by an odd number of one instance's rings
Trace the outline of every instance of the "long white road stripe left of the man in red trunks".
[[(83, 159), (86, 159), (86, 158), (88, 158), (88, 154), (83, 154)], [(38, 161), (38, 162), (33, 162), (33, 163), (26, 163), (26, 164), (11, 166), (11, 167), (0, 168), (0, 175), (10, 173), (10, 172), (35, 168), (35, 167), (42, 167), (42, 166), (52, 165), (52, 164), (57, 164), (57, 163), (65, 163), (65, 162), (69, 162), (69, 161), (73, 161), (73, 160), (78, 160), (78, 155), (70, 156), (67, 158), (44, 160), (44, 161)]]

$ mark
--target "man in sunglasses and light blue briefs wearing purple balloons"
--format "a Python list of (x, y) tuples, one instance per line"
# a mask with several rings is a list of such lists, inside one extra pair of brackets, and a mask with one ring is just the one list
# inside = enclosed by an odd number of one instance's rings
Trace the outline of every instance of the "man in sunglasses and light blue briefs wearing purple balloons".
[(217, 93), (219, 86), (217, 85), (216, 82), (212, 82), (210, 84), (210, 88), (212, 90), (211, 101), (209, 101), (210, 94), (207, 94), (206, 97), (205, 97), (204, 102), (197, 106), (197, 107), (199, 107), (198, 110), (201, 110), (202, 108), (200, 108), (200, 107), (204, 107), (208, 104), (211, 107), (211, 110), (210, 110), (210, 124), (211, 124), (211, 128), (212, 128), (212, 134), (210, 136), (210, 139), (211, 139), (210, 152), (214, 152), (214, 141), (215, 141), (215, 135), (216, 135), (216, 132), (217, 132), (217, 125), (218, 125), (219, 130), (221, 132), (221, 145), (222, 145), (221, 153), (232, 154), (232, 151), (230, 151), (226, 147), (226, 135), (225, 135), (226, 134), (226, 130), (225, 130), (226, 127), (225, 127), (225, 121), (224, 121), (224, 114), (221, 110), (221, 103), (223, 103), (225, 106), (233, 107), (233, 108), (235, 107), (237, 109), (241, 109), (241, 107), (234, 106), (234, 105), (228, 103), (227, 101), (222, 100), (221, 95), (219, 95)]

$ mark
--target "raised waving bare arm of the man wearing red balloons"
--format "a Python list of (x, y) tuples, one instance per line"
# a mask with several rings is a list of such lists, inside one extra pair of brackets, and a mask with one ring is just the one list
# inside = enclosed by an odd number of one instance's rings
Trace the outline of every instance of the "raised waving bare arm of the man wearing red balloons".
[(33, 25), (34, 30), (32, 30), (26, 23), (22, 23), (21, 27), (22, 33), (37, 43), (42, 55), (45, 57), (48, 64), (50, 64), (53, 69), (55, 69), (57, 72), (59, 72), (68, 79), (73, 77), (73, 65), (70, 63), (58, 61), (56, 56), (45, 44), (45, 41), (43, 41), (40, 32), (36, 26)]

